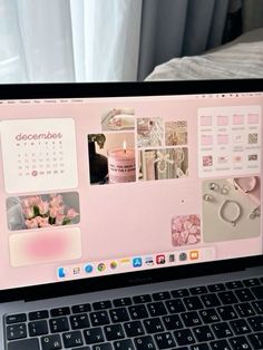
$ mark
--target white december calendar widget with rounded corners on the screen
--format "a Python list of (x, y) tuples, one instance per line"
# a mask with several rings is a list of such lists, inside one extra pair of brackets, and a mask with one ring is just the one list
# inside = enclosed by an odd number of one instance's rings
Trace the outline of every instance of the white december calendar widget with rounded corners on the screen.
[(8, 193), (77, 187), (74, 119), (3, 120), (0, 129)]

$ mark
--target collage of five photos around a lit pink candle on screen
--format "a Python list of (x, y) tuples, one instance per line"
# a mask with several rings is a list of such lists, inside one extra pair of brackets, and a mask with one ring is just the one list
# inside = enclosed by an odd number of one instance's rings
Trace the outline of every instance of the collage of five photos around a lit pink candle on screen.
[(90, 184), (188, 176), (187, 121), (137, 117), (133, 108), (101, 116), (101, 134), (89, 134)]

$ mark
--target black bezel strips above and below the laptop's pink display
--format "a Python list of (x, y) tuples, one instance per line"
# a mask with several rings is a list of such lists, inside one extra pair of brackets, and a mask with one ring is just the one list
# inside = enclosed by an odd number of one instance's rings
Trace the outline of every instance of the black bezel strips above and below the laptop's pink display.
[[(263, 79), (0, 85), (1, 100), (263, 93)], [(263, 265), (263, 254), (0, 291), (0, 303), (185, 279)], [(59, 288), (58, 288), (59, 283)]]

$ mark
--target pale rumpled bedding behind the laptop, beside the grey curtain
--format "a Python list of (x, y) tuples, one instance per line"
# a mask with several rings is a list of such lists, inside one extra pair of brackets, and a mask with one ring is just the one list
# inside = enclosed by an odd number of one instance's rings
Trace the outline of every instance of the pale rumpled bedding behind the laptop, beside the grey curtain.
[(174, 58), (157, 66), (146, 80), (225, 78), (263, 78), (263, 38), (252, 42), (235, 40), (202, 56)]

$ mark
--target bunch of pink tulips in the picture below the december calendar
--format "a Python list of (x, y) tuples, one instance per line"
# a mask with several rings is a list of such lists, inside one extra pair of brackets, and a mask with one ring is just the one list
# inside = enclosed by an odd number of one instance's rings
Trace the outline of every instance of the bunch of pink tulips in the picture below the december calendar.
[[(70, 193), (66, 195), (66, 200), (68, 198), (66, 202), (70, 202)], [(75, 193), (71, 194), (71, 196), (76, 195)], [(74, 203), (76, 203), (76, 200)], [(74, 208), (68, 206), (67, 203), (64, 202), (61, 194), (45, 194), (21, 198), (21, 212), (26, 229), (75, 224), (79, 220), (78, 211), (79, 207)]]

